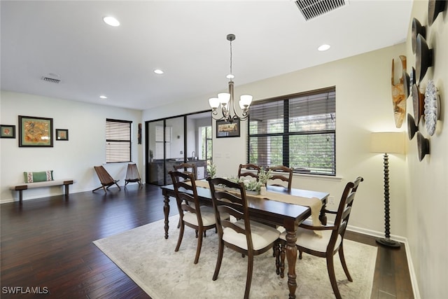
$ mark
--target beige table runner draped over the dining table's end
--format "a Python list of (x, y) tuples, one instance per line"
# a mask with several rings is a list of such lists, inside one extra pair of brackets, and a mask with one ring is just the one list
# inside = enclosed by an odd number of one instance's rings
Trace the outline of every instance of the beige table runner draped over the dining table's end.
[[(197, 180), (195, 181), (197, 187), (202, 188), (210, 188), (208, 181)], [(309, 207), (311, 209), (311, 219), (313, 221), (314, 226), (321, 226), (321, 221), (319, 220), (319, 214), (322, 209), (322, 202), (317, 197), (302, 197), (302, 196), (294, 196), (289, 194), (282, 194), (276, 192), (267, 191), (266, 195), (251, 195), (246, 194), (247, 197), (255, 197), (255, 198), (265, 198), (267, 200), (275, 200), (277, 202), (286, 202), (288, 204), (298, 204), (303, 207)], [(314, 230), (316, 235), (321, 236), (321, 231)]]

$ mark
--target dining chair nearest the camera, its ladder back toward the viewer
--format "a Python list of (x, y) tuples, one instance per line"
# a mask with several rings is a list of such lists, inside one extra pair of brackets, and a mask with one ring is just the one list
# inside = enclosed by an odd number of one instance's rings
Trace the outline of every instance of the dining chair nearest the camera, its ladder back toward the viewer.
[[(258, 256), (271, 249), (274, 243), (279, 242), (279, 230), (270, 226), (249, 220), (249, 211), (246, 200), (244, 183), (235, 183), (227, 179), (211, 179), (209, 181), (211, 198), (216, 215), (218, 228), (219, 248), (213, 280), (218, 279), (221, 262), (223, 261), (224, 246), (233, 249), (243, 256), (247, 256), (247, 277), (244, 298), (248, 298), (251, 291), (253, 272), (253, 256)], [(236, 193), (221, 190), (221, 186), (235, 188)], [(239, 219), (236, 222), (223, 220), (222, 214), (228, 213)], [(232, 273), (230, 273), (232, 275)]]

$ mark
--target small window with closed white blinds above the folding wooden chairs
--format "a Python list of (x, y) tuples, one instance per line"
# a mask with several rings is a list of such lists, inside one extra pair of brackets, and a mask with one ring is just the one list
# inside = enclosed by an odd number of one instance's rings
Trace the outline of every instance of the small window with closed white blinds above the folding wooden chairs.
[(132, 161), (131, 124), (129, 120), (106, 119), (106, 163)]

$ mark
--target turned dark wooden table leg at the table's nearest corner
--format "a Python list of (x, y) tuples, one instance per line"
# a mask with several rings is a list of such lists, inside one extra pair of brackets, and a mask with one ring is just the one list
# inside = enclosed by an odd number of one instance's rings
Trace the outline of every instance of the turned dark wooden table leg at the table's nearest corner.
[(297, 223), (294, 221), (288, 221), (285, 223), (286, 228), (286, 260), (288, 260), (288, 288), (289, 299), (295, 299), (295, 289), (297, 288), (297, 281), (295, 280), (297, 275), (295, 274), (295, 261), (297, 260)]

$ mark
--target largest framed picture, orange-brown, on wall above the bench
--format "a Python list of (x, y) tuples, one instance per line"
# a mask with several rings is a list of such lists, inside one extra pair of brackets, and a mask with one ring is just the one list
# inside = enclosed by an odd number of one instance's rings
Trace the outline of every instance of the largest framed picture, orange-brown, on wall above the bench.
[(53, 119), (19, 116), (20, 147), (52, 147)]

